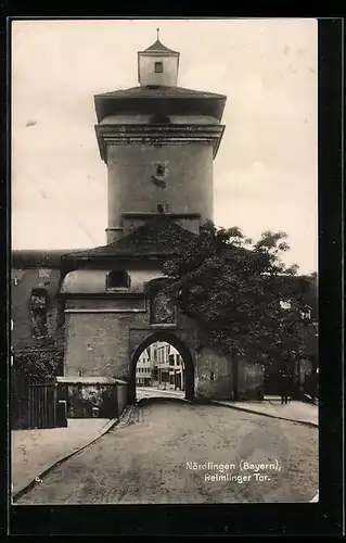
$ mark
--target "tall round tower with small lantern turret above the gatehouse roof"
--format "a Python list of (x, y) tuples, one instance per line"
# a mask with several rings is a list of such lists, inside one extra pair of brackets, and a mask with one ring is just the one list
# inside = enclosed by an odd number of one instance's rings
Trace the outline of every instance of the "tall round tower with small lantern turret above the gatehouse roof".
[(226, 97), (178, 87), (179, 60), (157, 36), (138, 52), (140, 86), (94, 97), (108, 169), (107, 243), (157, 213), (191, 231), (213, 219), (213, 160)]

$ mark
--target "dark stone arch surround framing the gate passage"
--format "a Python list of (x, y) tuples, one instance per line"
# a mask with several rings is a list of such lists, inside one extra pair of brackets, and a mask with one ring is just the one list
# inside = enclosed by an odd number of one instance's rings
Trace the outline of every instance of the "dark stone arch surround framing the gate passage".
[(192, 401), (194, 399), (194, 359), (190, 349), (185, 342), (179, 338), (175, 331), (168, 330), (150, 330), (149, 333), (140, 341), (130, 359), (129, 375), (129, 394), (128, 403), (136, 403), (136, 366), (141, 353), (155, 341), (165, 341), (177, 349), (181, 355), (185, 368), (185, 399)]

